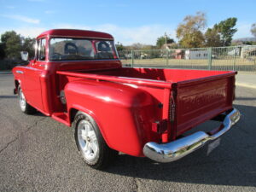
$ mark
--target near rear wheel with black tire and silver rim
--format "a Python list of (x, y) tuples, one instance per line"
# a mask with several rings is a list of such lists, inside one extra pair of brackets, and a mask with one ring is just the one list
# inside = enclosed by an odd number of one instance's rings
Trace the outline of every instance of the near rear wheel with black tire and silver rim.
[(86, 113), (77, 113), (74, 120), (75, 140), (85, 163), (95, 169), (103, 169), (117, 156), (109, 148), (94, 119)]

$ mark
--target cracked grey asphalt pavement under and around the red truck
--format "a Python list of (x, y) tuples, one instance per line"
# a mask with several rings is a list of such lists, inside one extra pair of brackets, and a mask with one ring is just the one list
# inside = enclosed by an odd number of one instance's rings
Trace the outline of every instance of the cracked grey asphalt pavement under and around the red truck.
[(236, 87), (241, 120), (211, 154), (168, 164), (119, 154), (100, 172), (84, 165), (71, 128), (21, 113), (13, 86), (0, 74), (0, 191), (256, 191), (256, 89)]

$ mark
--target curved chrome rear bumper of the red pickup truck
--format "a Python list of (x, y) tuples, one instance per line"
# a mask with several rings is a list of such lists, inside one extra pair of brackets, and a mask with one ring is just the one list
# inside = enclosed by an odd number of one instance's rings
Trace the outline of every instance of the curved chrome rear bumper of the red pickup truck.
[(204, 131), (197, 131), (192, 135), (177, 139), (171, 143), (158, 144), (149, 142), (145, 144), (143, 153), (149, 159), (162, 163), (179, 160), (196, 149), (201, 148), (208, 141), (217, 139), (226, 131), (229, 131), (232, 125), (235, 125), (240, 119), (240, 116), (240, 112), (236, 108), (233, 108), (233, 110), (225, 116), (221, 125), (222, 128), (218, 132), (210, 134)]

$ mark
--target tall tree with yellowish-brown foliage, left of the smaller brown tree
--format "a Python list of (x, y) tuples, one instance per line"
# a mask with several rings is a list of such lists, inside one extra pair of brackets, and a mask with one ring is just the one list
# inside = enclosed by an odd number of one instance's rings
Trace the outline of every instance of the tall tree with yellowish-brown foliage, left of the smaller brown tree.
[(202, 47), (204, 35), (201, 32), (207, 25), (206, 15), (197, 12), (196, 15), (187, 15), (177, 26), (176, 36), (179, 44), (184, 48)]

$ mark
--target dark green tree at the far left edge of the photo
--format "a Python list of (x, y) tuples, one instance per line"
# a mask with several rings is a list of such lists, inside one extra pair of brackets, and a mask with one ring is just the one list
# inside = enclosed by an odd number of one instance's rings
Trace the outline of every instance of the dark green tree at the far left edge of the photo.
[(8, 58), (17, 59), (20, 58), (20, 35), (15, 31), (4, 32), (1, 36), (5, 55)]

